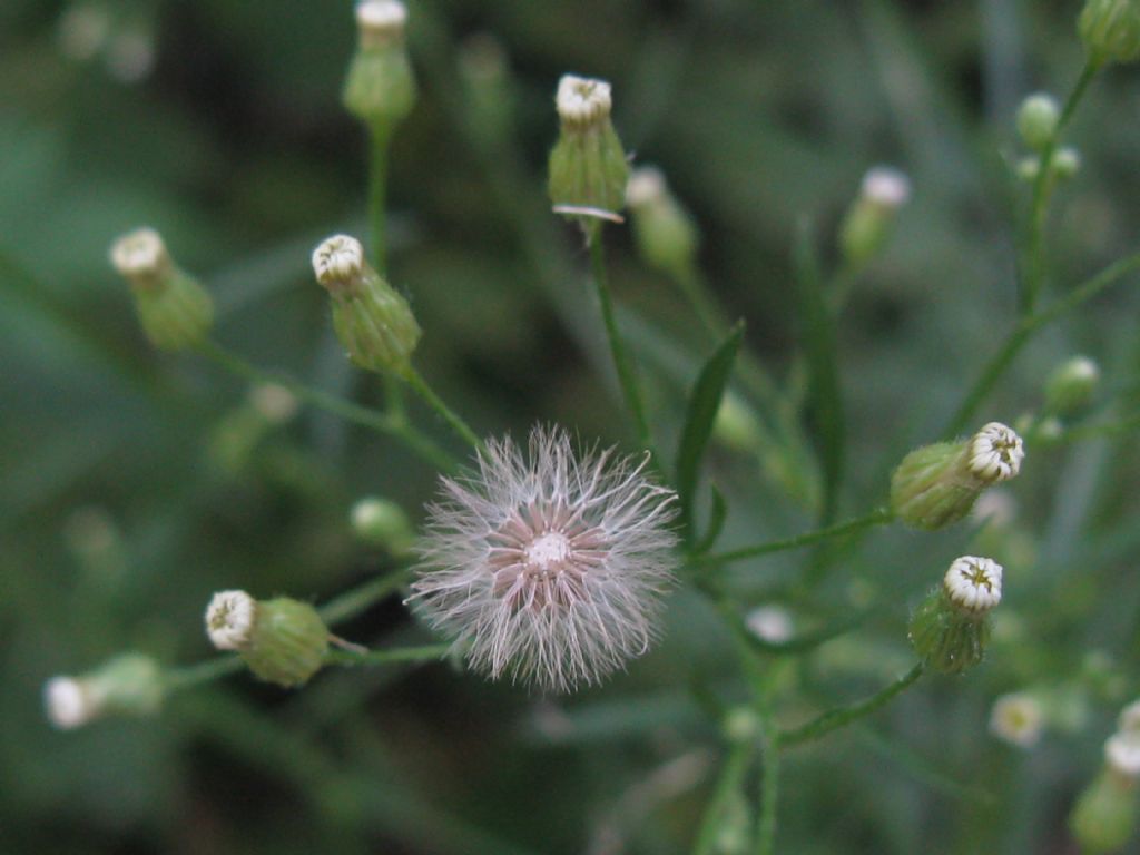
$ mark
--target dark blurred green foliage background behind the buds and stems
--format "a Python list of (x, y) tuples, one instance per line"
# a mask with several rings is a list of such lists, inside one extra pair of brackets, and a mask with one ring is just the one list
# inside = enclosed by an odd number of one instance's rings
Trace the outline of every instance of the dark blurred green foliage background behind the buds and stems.
[[(424, 328), (422, 373), (487, 434), (557, 421), (628, 442), (580, 238), (548, 214), (546, 153), (564, 72), (609, 79), (614, 120), (698, 217), (702, 263), (747, 344), (797, 388), (796, 223), (824, 256), (863, 172), (914, 195), (858, 284), (839, 347), (850, 473), (841, 513), (881, 502), (889, 467), (934, 439), (1015, 317), (1012, 114), (1062, 95), (1083, 62), (1077, 2), (409, 2), (421, 100), (391, 169), (391, 278)], [(309, 253), (365, 229), (366, 144), (340, 107), (348, 2), (239, 0), (0, 6), (0, 849), (11, 853), (681, 853), (715, 780), (715, 716), (744, 697), (716, 616), (671, 600), (665, 642), (567, 699), (446, 665), (321, 675), (288, 693), (237, 676), (146, 720), (52, 731), (41, 686), (124, 649), (210, 656), (219, 588), (324, 601), (378, 572), (348, 510), (365, 494), (420, 519), (434, 473), (326, 415), (249, 432), (245, 388), (152, 351), (107, 262), (160, 229), (219, 304), (218, 337), (268, 367), (376, 402), (332, 336)], [(503, 65), (499, 65), (503, 63)], [(504, 75), (497, 78), (496, 75)], [(1053, 293), (1137, 249), (1140, 76), (1098, 81), (1068, 141)], [(611, 275), (675, 438), (710, 351), (683, 300), (608, 230)], [(979, 422), (1040, 405), (1083, 352), (1105, 373), (1093, 416), (1133, 413), (1138, 300), (1127, 287), (1050, 327)], [(456, 453), (445, 426), (417, 422)], [(243, 415), (244, 414), (244, 415)], [(243, 418), (245, 421), (243, 421)], [(670, 439), (671, 441), (671, 439)], [(909, 667), (907, 608), (951, 559), (1007, 565), (990, 661), (923, 682), (889, 710), (789, 752), (777, 850), (1067, 853), (1064, 817), (1138, 685), (1140, 456), (1131, 439), (1029, 449), (999, 537), (966, 527), (872, 534), (824, 592), (811, 556), (741, 564), (742, 608), (798, 626), (873, 605), (787, 666), (788, 723)], [(724, 546), (812, 515), (760, 465), (715, 449)], [(397, 597), (343, 628), (376, 645), (426, 632)], [(773, 667), (785, 667), (773, 662)], [(700, 691), (692, 691), (698, 686)], [(1031, 751), (986, 731), (995, 697), (1042, 687), (1064, 708)]]

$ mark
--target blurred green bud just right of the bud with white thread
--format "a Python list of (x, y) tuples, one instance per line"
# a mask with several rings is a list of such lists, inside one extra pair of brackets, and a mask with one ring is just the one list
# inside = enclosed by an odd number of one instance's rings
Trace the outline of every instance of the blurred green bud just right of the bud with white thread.
[(697, 223), (669, 192), (665, 176), (641, 166), (629, 176), (626, 204), (633, 214), (637, 251), (646, 264), (677, 278), (692, 276), (700, 236)]

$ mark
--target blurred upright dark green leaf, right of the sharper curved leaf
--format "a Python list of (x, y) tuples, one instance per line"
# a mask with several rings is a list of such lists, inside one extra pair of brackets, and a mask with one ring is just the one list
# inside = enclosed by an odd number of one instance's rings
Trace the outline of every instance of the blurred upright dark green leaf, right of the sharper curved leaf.
[(807, 358), (807, 402), (814, 429), (813, 440), (823, 474), (820, 524), (826, 526), (836, 519), (839, 483), (842, 480), (844, 404), (839, 392), (836, 321), (828, 308), (812, 229), (807, 225), (800, 228), (796, 243), (796, 291)]

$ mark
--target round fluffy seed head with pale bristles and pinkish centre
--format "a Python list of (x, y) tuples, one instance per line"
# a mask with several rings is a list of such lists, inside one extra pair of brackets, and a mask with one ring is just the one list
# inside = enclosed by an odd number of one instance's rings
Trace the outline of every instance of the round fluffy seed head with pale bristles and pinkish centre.
[(491, 678), (600, 682), (649, 649), (673, 577), (674, 494), (646, 465), (576, 456), (559, 429), (531, 431), (528, 453), (488, 442), (429, 508), (412, 601)]

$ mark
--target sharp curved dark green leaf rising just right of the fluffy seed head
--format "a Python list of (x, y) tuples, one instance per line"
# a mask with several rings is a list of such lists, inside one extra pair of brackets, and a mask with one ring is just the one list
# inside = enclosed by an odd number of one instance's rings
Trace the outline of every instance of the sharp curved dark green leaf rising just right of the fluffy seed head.
[(689, 398), (689, 409), (685, 413), (685, 426), (681, 432), (681, 445), (677, 449), (677, 495), (681, 498), (681, 523), (685, 539), (692, 543), (693, 506), (695, 504), (697, 479), (700, 473), (701, 458), (712, 433), (712, 423), (720, 398), (724, 396), (732, 364), (744, 337), (744, 321), (740, 320), (728, 332), (724, 341), (717, 345), (712, 356), (701, 368)]

